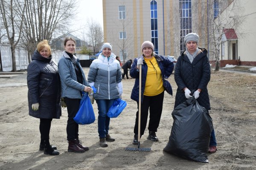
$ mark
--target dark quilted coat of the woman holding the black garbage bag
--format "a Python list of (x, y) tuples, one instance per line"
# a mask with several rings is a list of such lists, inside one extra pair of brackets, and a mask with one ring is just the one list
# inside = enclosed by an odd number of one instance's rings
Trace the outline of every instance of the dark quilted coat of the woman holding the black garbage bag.
[(210, 110), (209, 94), (207, 84), (210, 81), (211, 70), (209, 59), (207, 57), (207, 50), (199, 48), (200, 53), (195, 57), (193, 62), (189, 61), (184, 51), (177, 60), (175, 66), (174, 78), (177, 84), (177, 93), (175, 97), (174, 108), (186, 101), (183, 88), (188, 88), (190, 91), (201, 88), (202, 91), (197, 99), (199, 105), (207, 110)]

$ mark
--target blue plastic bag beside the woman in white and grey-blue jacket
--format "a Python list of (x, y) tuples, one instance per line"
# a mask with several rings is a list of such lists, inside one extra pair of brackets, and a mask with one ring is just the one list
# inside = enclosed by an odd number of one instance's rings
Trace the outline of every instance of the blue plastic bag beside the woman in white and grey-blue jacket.
[(119, 114), (124, 110), (126, 107), (126, 102), (122, 99), (115, 99), (113, 105), (108, 109), (107, 116), (110, 118), (115, 118), (119, 116)]

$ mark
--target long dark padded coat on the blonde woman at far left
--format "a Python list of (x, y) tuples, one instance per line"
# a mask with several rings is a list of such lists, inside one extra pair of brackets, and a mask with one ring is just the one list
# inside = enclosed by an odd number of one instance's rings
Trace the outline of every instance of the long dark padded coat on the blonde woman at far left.
[[(37, 51), (27, 68), (29, 115), (43, 119), (60, 119), (61, 82), (58, 67), (52, 56), (45, 58)], [(38, 111), (32, 104), (39, 103)]]

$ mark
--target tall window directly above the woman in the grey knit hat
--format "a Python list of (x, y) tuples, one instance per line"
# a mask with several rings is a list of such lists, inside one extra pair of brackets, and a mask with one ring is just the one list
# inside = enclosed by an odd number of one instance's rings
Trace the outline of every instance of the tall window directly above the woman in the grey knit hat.
[(186, 50), (184, 37), (192, 32), (191, 0), (180, 0), (180, 53)]

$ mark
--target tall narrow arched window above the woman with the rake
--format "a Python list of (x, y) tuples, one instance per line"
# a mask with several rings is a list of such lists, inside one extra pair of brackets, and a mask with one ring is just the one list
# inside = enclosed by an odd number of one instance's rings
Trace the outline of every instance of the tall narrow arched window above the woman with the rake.
[(157, 2), (152, 0), (150, 3), (151, 13), (151, 42), (154, 44), (154, 52), (158, 54), (158, 29), (157, 29)]

